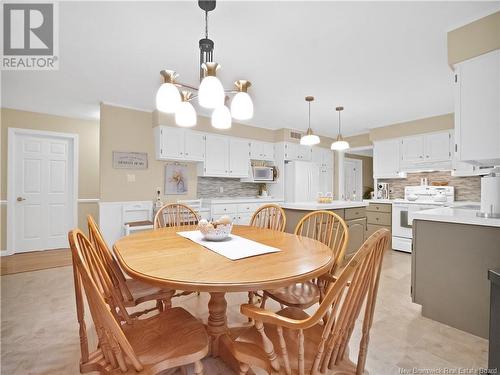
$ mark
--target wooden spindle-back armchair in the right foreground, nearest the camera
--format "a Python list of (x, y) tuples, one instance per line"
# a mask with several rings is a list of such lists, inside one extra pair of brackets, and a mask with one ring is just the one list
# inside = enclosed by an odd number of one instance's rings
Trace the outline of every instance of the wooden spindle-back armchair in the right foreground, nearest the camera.
[[(242, 305), (241, 313), (255, 324), (231, 347), (240, 362), (240, 375), (246, 374), (249, 366), (270, 374), (363, 374), (382, 258), (389, 240), (387, 229), (368, 238), (339, 277), (331, 278), (325, 298), (311, 316), (294, 307), (274, 313)], [(357, 363), (353, 363), (349, 341), (360, 314), (361, 339)]]

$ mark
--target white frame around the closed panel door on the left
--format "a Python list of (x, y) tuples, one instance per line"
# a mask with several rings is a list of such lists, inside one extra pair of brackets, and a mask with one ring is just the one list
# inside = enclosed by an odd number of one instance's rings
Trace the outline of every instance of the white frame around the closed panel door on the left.
[[(78, 225), (78, 134), (61, 133), (35, 129), (8, 128), (7, 136), (7, 254), (15, 253), (15, 155), (16, 155), (16, 137), (20, 135), (32, 135), (39, 137), (64, 138), (71, 142), (73, 148), (73, 192), (69, 194), (73, 199), (73, 227)], [(69, 155), (69, 154), (68, 154)], [(46, 250), (46, 249), (40, 249)]]

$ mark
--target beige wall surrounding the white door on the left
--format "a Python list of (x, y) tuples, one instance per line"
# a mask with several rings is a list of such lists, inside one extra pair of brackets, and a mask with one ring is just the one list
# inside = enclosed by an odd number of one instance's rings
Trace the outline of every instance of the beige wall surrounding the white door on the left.
[[(78, 197), (99, 198), (99, 122), (54, 116), (43, 113), (26, 112), (2, 108), (1, 110), (1, 199), (7, 199), (7, 129), (22, 128), (62, 133), (78, 134), (79, 141), (79, 175)], [(1, 206), (0, 249), (6, 249), (6, 212), (7, 206)], [(85, 215), (97, 215), (96, 203), (80, 203), (78, 205), (78, 221), (82, 228)]]

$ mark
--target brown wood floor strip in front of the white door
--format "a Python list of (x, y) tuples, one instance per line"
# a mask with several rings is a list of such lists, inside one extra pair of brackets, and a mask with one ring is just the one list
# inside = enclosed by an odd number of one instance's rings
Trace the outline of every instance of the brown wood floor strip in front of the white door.
[(31, 251), (0, 258), (0, 275), (38, 271), (71, 265), (69, 249)]

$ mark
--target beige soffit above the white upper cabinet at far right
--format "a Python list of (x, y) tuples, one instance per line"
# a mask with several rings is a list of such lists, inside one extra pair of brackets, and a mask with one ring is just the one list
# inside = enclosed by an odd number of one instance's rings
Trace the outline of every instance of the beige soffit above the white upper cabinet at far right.
[(448, 64), (500, 48), (500, 12), (496, 12), (448, 33)]

